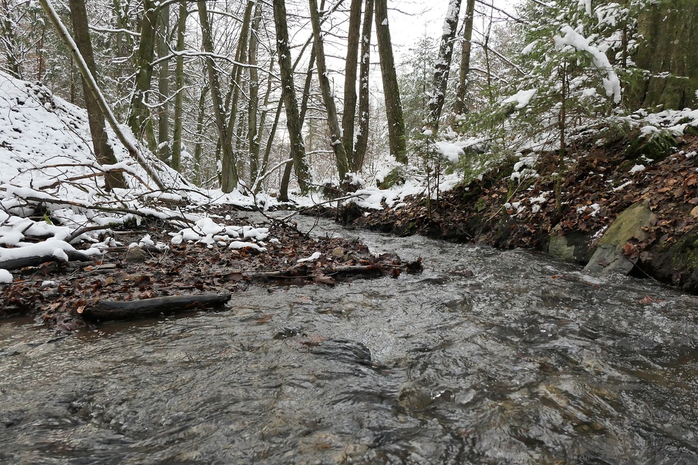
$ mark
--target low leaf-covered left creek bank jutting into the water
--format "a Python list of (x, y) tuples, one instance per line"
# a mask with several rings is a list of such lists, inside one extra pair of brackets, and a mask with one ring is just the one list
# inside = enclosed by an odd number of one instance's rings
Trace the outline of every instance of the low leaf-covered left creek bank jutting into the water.
[[(236, 224), (251, 224), (230, 211)], [(57, 257), (16, 268), (15, 280), (0, 284), (0, 321), (31, 317), (62, 333), (95, 322), (154, 317), (222, 307), (230, 294), (251, 282), (266, 286), (332, 286), (358, 278), (420, 273), (419, 261), (407, 263), (392, 254), (375, 256), (358, 240), (318, 237), (287, 222), (268, 224), (275, 240), (232, 250), (216, 244), (170, 242), (165, 222), (105, 233), (118, 245), (83, 261)], [(156, 244), (140, 245), (145, 234)], [(101, 240), (104, 240), (101, 237)], [(84, 244), (87, 246), (88, 244)], [(84, 257), (80, 257), (84, 259)]]

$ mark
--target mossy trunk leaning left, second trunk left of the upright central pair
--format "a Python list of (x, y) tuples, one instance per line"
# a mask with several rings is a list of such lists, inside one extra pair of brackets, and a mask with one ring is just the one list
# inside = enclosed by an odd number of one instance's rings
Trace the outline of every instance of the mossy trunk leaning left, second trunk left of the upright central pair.
[(276, 26), (276, 51), (279, 56), (281, 72), (281, 89), (283, 89), (283, 105), (286, 108), (286, 127), (291, 143), (291, 157), (298, 178), (301, 193), (308, 192), (310, 170), (306, 164), (305, 146), (303, 144), (302, 124), (298, 114), (296, 91), (293, 84), (293, 69), (291, 66), (291, 51), (288, 46), (288, 25), (286, 24), (285, 0), (274, 0), (274, 25)]

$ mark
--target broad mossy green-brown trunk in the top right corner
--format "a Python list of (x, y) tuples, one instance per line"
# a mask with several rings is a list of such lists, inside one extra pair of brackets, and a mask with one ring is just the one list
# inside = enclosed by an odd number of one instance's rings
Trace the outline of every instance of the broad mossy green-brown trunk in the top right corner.
[(632, 109), (694, 108), (698, 104), (698, 2), (664, 0), (638, 19), (635, 63), (649, 75), (628, 89)]

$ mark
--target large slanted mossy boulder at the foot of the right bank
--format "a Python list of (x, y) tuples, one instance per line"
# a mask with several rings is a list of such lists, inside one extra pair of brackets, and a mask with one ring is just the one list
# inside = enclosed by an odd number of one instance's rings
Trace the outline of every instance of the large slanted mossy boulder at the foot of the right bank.
[(649, 227), (655, 219), (655, 214), (645, 202), (626, 208), (604, 233), (584, 270), (591, 274), (629, 274), (637, 259), (628, 258), (623, 247), (630, 238), (646, 239), (647, 233), (643, 228)]

